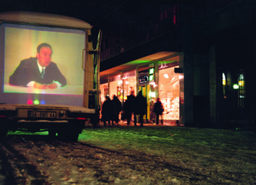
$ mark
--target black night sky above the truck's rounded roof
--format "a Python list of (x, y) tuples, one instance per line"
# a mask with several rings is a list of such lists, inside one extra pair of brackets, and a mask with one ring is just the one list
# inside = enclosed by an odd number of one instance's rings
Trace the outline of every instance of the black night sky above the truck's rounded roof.
[(3, 11), (34, 11), (50, 14), (62, 14), (98, 25), (115, 10), (126, 6), (126, 1), (120, 0), (2, 0), (0, 12)]

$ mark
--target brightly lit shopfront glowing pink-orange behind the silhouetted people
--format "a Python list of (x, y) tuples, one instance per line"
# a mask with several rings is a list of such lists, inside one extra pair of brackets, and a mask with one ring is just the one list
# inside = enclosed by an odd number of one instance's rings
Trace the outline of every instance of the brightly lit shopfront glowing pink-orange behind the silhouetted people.
[(157, 97), (164, 106), (163, 120), (179, 120), (180, 79), (183, 78), (183, 74), (174, 73), (174, 69), (179, 67), (179, 55), (165, 57), (162, 60), (141, 60), (142, 63), (138, 61), (132, 65), (133, 68), (119, 70), (118, 73), (114, 73), (117, 72), (114, 69), (111, 71), (112, 74), (105, 77), (102, 77), (101, 73), (102, 102), (105, 96), (110, 96), (112, 100), (115, 95), (123, 104), (132, 90), (135, 96), (138, 91), (142, 91), (148, 105), (145, 116), (147, 120), (154, 121), (152, 111)]

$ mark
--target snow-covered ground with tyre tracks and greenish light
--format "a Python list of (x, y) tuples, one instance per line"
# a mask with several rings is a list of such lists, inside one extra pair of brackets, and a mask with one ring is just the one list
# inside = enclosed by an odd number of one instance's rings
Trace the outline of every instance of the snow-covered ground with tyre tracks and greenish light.
[(87, 127), (78, 142), (10, 133), (0, 184), (255, 184), (255, 133), (161, 126)]

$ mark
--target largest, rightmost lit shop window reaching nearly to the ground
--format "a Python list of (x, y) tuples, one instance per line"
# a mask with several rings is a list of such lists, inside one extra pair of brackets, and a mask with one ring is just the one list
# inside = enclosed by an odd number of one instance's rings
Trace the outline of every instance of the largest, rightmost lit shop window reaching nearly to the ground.
[(178, 57), (158, 62), (158, 96), (164, 106), (164, 120), (179, 120), (179, 74)]

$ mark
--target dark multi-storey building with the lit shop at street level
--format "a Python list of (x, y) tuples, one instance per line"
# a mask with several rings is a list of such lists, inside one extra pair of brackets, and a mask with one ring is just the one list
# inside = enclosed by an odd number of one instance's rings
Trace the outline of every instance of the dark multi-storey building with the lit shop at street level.
[[(254, 1), (126, 1), (102, 30), (101, 90), (160, 97), (165, 120), (255, 128)], [(103, 100), (103, 99), (102, 99)]]

